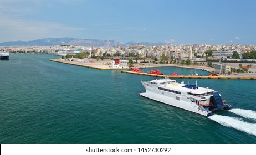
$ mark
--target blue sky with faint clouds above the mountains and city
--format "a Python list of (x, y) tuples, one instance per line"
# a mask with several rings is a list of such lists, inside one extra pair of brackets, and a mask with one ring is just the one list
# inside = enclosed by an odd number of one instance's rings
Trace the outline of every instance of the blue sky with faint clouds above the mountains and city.
[(0, 0), (0, 43), (59, 37), (256, 45), (256, 1)]

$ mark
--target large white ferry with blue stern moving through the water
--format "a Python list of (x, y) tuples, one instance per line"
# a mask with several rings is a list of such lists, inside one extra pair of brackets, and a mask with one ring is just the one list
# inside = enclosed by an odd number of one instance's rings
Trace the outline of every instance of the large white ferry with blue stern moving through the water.
[(198, 87), (197, 82), (196, 85), (184, 84), (184, 81), (178, 83), (171, 79), (141, 82), (146, 89), (146, 92), (140, 93), (141, 96), (203, 116), (211, 116), (214, 114), (213, 111), (232, 108), (221, 99), (218, 91), (208, 87)]

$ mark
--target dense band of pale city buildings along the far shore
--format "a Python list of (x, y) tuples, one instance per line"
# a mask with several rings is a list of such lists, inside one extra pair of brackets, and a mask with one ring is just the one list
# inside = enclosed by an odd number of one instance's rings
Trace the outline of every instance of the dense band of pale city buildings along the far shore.
[[(58, 51), (80, 51), (83, 58), (102, 58), (119, 56), (121, 58), (151, 59), (155, 61), (206, 60), (222, 58), (223, 60), (256, 59), (255, 45), (162, 45), (162, 46), (129, 46), (85, 47), (74, 45), (2, 47), (0, 51), (9, 53), (55, 54)], [(239, 60), (238, 60), (239, 61)]]

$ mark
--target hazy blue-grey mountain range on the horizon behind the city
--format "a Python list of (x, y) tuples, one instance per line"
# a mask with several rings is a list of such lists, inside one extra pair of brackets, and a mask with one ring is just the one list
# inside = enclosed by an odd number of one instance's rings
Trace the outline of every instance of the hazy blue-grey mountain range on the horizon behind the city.
[(56, 45), (78, 45), (78, 46), (157, 46), (166, 45), (167, 43), (150, 43), (150, 42), (128, 42), (126, 44), (115, 40), (98, 40), (98, 39), (75, 39), (75, 38), (45, 38), (32, 41), (10, 41), (0, 43), (0, 46), (56, 46)]

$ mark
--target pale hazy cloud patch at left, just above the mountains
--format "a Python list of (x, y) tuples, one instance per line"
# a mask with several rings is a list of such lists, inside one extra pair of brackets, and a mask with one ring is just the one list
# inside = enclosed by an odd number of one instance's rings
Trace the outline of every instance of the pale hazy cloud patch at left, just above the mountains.
[[(0, 16), (0, 34), (6, 40), (31, 40), (48, 37), (74, 36), (86, 31), (85, 28), (69, 27), (57, 22), (42, 22), (39, 20), (10, 19)], [(4, 40), (3, 40), (4, 39)]]

